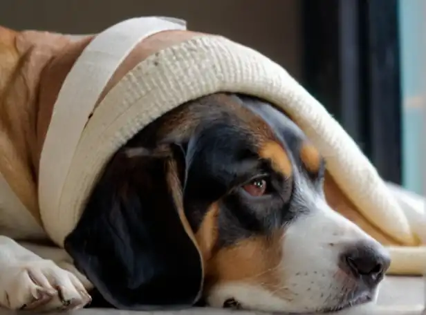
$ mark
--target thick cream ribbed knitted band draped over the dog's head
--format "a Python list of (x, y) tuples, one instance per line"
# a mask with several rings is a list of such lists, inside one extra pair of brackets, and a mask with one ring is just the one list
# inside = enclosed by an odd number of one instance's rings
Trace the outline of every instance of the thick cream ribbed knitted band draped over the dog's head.
[(40, 209), (50, 237), (63, 245), (120, 146), (172, 108), (216, 92), (245, 93), (280, 106), (324, 155), (328, 171), (365, 218), (400, 242), (413, 242), (407, 219), (376, 169), (326, 109), (275, 62), (212, 35), (160, 50), (109, 91), (84, 128), (59, 207), (54, 213)]

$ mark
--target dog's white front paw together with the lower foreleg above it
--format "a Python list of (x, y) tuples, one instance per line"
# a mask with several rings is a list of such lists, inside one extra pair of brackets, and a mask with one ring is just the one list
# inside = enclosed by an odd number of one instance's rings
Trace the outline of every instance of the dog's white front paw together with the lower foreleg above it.
[[(89, 303), (91, 298), (86, 289), (91, 285), (73, 267), (63, 249), (24, 246), (0, 236), (2, 307), (21, 309), (26, 305), (26, 309), (41, 312), (77, 309)], [(37, 252), (45, 257), (41, 258)], [(68, 300), (69, 305), (64, 305), (61, 297)]]

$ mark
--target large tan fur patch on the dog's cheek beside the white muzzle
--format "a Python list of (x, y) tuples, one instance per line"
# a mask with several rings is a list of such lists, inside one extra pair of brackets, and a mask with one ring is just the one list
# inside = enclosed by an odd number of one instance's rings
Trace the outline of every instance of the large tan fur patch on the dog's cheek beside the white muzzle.
[[(277, 231), (269, 238), (252, 237), (220, 249), (206, 266), (206, 279), (214, 283), (243, 280), (291, 299), (289, 289), (282, 283), (282, 238), (283, 231)], [(207, 288), (211, 284), (207, 282)]]

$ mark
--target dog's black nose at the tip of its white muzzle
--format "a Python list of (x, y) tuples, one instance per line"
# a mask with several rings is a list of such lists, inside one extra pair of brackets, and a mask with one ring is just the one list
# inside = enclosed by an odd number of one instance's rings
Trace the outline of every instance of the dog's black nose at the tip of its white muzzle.
[(389, 269), (391, 258), (379, 246), (358, 244), (348, 247), (340, 258), (341, 267), (367, 285), (377, 285)]

